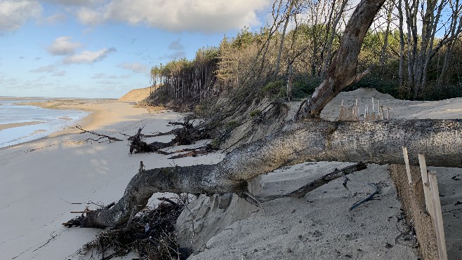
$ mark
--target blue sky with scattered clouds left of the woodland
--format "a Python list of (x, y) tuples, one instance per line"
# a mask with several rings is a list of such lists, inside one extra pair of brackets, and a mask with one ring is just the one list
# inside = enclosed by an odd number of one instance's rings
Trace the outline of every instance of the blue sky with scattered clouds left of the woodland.
[(118, 98), (266, 24), (272, 0), (0, 0), (0, 96)]

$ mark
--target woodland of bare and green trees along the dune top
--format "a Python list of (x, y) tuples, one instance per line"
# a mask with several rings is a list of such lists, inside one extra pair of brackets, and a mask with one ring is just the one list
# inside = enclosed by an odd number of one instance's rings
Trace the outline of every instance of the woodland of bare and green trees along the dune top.
[[(193, 60), (151, 69), (154, 96), (202, 102), (223, 93), (288, 100), (311, 95), (329, 73), (353, 6), (348, 0), (275, 0), (273, 22), (242, 29)], [(460, 0), (387, 0), (364, 38), (364, 71), (348, 89), (376, 88), (411, 100), (462, 96)]]

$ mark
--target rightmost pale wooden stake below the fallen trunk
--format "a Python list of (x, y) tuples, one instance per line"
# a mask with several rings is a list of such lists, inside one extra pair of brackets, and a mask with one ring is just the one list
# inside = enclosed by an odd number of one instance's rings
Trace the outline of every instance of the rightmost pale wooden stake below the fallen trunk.
[(443, 216), (441, 213), (440, 192), (438, 191), (438, 183), (436, 180), (436, 172), (428, 172), (428, 180), (430, 181), (430, 191), (433, 197), (433, 225), (436, 231), (436, 240), (438, 244), (438, 254), (440, 260), (447, 260), (446, 240), (444, 240)]

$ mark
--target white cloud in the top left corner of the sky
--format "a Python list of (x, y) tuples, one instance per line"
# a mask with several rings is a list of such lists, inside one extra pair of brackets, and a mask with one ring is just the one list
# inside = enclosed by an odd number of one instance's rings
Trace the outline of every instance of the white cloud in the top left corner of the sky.
[(37, 18), (44, 8), (32, 0), (0, 1), (0, 32), (15, 31), (27, 20)]

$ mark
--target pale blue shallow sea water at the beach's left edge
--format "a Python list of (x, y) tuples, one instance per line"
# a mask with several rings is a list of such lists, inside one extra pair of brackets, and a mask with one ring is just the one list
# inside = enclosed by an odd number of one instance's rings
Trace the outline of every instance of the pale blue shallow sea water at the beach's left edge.
[[(29, 142), (75, 125), (89, 112), (80, 110), (43, 109), (18, 103), (41, 100), (0, 97), (0, 148)], [(6, 124), (14, 124), (5, 128)], [(22, 125), (26, 124), (26, 125)]]

